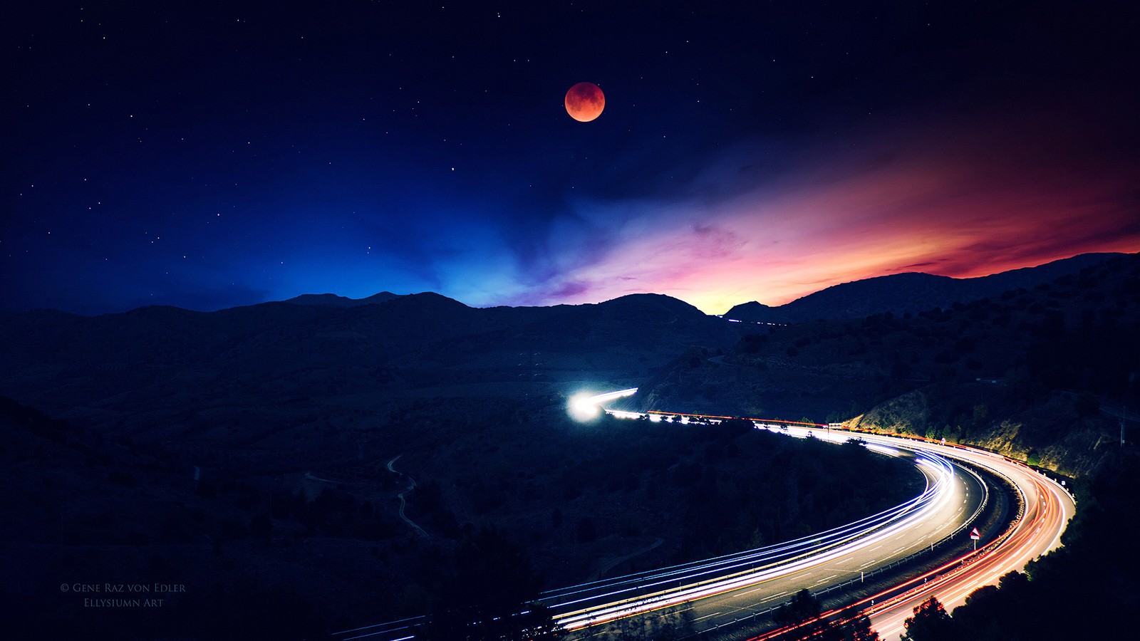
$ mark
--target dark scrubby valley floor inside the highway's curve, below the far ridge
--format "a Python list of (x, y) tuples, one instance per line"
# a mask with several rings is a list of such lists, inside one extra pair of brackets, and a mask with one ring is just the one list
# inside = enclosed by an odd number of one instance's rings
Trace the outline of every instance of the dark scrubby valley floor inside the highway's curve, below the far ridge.
[[(132, 631), (121, 639), (320, 634), (429, 611), (464, 546), (489, 530), (536, 585), (555, 587), (801, 536), (922, 487), (913, 466), (857, 446), (748, 425), (583, 424), (562, 403), (484, 406), (471, 422), (412, 411), (399, 449), (369, 445), (312, 468), (316, 446), (271, 470), (245, 456), (198, 461), (195, 480), (184, 452), (0, 400), (10, 488), (0, 496), (0, 601), (35, 595), (10, 612), (17, 638), (91, 626)], [(398, 516), (409, 478), (406, 513), (425, 536)], [(83, 609), (62, 582), (170, 582), (186, 593), (139, 615)]]

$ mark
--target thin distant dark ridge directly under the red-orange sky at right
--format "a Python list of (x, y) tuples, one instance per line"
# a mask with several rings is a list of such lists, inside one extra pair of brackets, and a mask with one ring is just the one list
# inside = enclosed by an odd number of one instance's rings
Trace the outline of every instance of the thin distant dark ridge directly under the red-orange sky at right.
[(955, 302), (996, 297), (1018, 287), (1032, 289), (1119, 255), (1125, 254), (1086, 253), (977, 278), (891, 274), (832, 285), (779, 307), (759, 302), (738, 305), (724, 317), (755, 323), (803, 323), (817, 318), (862, 318), (886, 311), (905, 314), (947, 308)]

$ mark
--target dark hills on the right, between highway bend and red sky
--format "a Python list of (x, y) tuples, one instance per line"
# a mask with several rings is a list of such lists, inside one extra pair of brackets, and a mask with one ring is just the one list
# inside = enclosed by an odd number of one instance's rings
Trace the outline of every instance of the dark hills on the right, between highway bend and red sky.
[(850, 420), (1069, 474), (1118, 441), (1098, 403), (1140, 406), (1140, 254), (915, 314), (741, 326), (754, 333), (723, 354), (691, 347), (630, 406)]

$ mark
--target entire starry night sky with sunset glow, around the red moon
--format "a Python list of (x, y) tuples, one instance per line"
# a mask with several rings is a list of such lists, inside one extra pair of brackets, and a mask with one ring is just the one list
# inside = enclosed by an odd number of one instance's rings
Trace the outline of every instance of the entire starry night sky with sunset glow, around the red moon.
[[(719, 314), (1140, 251), (1134, 3), (18, 5), (8, 310)], [(605, 92), (592, 122), (577, 82)]]

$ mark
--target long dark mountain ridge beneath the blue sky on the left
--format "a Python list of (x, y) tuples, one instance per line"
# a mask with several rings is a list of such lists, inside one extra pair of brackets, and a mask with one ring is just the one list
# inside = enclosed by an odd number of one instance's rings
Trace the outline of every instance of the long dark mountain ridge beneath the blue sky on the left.
[[(430, 389), (513, 397), (568, 381), (636, 384), (687, 344), (732, 344), (733, 330), (657, 294), (547, 308), (480, 309), (426, 292), (213, 313), (36, 310), (0, 317), (0, 393), (144, 432), (170, 416), (210, 431), (242, 424), (242, 438), (255, 441), (256, 425), (304, 423), (345, 396), (382, 404)], [(300, 420), (286, 417), (294, 406)]]

